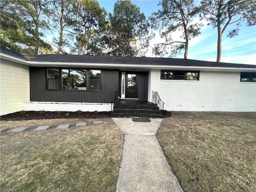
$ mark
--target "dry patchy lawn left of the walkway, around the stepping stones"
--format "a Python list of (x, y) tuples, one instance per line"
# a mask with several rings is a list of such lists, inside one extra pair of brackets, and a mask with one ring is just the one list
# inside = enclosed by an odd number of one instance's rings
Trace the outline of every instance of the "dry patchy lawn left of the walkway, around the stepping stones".
[[(1, 121), (1, 127), (30, 126), (1, 132), (1, 188), (19, 192), (115, 191), (123, 136), (111, 118)], [(87, 126), (75, 128), (76, 122)], [(71, 124), (56, 130), (58, 124)], [(40, 125), (52, 125), (33, 131)]]

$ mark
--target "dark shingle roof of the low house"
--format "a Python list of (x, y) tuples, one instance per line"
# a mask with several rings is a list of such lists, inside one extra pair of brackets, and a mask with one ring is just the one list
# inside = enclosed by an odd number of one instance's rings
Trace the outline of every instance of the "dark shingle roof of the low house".
[(181, 58), (153, 58), (153, 57), (116, 57), (93, 55), (33, 55), (24, 56), (12, 50), (2, 48), (1, 53), (21, 58), (32, 62), (63, 62), (63, 63), (92, 63), (92, 64), (129, 64), (129, 65), (156, 65), (156, 66), (202, 66), (202, 67), (232, 67), (232, 68), (256, 68), (255, 65), (234, 64), (222, 62), (210, 62)]

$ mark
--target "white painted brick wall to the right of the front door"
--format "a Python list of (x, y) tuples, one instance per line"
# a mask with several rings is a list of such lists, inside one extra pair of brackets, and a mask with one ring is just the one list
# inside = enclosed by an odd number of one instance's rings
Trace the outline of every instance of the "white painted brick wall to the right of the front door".
[(256, 83), (240, 82), (240, 72), (200, 72), (199, 81), (160, 80), (160, 70), (149, 72), (149, 101), (157, 91), (165, 110), (256, 111)]

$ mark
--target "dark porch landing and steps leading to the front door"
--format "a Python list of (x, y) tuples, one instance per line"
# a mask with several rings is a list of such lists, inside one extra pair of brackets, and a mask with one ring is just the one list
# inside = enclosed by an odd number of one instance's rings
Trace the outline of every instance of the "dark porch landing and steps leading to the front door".
[(118, 100), (114, 104), (112, 117), (162, 118), (161, 111), (153, 102), (138, 100)]

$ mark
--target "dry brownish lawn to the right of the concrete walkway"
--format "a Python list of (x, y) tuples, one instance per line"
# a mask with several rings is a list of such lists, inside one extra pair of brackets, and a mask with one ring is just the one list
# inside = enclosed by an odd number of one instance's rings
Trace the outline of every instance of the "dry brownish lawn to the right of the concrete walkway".
[(157, 137), (184, 192), (256, 191), (256, 113), (174, 112)]

